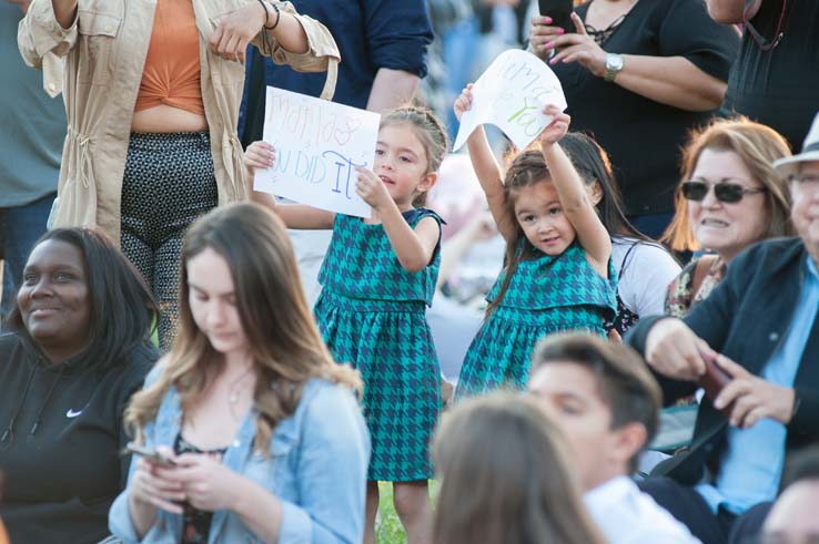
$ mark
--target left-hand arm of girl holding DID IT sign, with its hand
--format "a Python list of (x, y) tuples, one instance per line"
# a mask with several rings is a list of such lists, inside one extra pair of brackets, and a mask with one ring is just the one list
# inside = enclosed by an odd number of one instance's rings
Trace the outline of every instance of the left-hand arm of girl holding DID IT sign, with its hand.
[(335, 214), (314, 208), (305, 204), (276, 204), (273, 195), (253, 191), (253, 178), (256, 168), (269, 168), (275, 164), (275, 150), (266, 142), (253, 142), (244, 152), (244, 165), (247, 168), (251, 201), (272, 209), (282, 218), (287, 228), (328, 230), (333, 228)]

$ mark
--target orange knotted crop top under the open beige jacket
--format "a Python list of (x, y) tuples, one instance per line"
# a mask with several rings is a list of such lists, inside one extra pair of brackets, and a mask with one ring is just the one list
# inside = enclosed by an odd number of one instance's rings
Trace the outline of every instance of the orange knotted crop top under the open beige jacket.
[(192, 0), (159, 0), (134, 111), (166, 104), (204, 115)]

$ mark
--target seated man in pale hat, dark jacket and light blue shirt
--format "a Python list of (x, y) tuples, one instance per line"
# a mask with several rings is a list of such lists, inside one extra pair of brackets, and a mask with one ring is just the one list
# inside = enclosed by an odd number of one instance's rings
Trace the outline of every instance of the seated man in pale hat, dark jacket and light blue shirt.
[(704, 544), (758, 526), (786, 456), (819, 439), (819, 115), (802, 153), (775, 167), (790, 179), (799, 237), (750, 247), (688, 317), (640, 319), (627, 337), (667, 403), (707, 370), (730, 376), (702, 399), (688, 452), (641, 484)]

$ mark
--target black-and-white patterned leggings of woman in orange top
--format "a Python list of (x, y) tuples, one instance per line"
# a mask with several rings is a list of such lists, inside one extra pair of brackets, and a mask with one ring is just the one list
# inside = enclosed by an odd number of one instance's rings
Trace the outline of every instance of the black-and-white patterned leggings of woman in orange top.
[(179, 317), (185, 230), (219, 202), (210, 135), (132, 133), (122, 181), (122, 250), (160, 305), (160, 347), (170, 349)]

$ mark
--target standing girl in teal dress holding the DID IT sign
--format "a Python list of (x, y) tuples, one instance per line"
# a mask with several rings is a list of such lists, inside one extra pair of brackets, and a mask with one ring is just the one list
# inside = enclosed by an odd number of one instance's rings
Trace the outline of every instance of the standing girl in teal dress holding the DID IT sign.
[[(425, 542), (431, 534), (427, 447), (441, 410), (441, 371), (425, 312), (438, 275), (443, 222), (423, 205), (446, 148), (446, 131), (428, 110), (383, 115), (374, 167), (358, 168), (356, 181), (372, 219), (275, 205), (254, 194), (290, 228), (333, 229), (315, 316), (336, 361), (352, 365), (364, 380), (372, 439), (365, 543), (375, 542), (378, 481), (394, 484), (407, 542)], [(245, 164), (269, 167), (273, 152), (255, 142)]]

